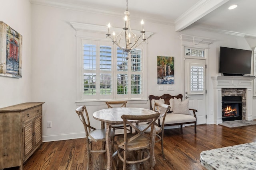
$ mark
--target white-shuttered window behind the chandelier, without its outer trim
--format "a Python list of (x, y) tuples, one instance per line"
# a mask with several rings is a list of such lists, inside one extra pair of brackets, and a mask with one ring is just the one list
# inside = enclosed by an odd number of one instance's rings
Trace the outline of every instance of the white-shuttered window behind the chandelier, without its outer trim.
[(143, 99), (143, 45), (126, 60), (111, 42), (82, 39), (81, 101)]

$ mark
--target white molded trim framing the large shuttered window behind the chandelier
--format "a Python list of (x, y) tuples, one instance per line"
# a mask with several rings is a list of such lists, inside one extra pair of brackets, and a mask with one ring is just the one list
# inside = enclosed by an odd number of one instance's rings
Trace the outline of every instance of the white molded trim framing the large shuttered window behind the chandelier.
[[(72, 27), (76, 30), (76, 105), (105, 105), (106, 99), (103, 100), (82, 100), (82, 92), (81, 92), (81, 86), (83, 86), (82, 81), (82, 40), (86, 39), (89, 41), (106, 41), (109, 42), (109, 39), (106, 38), (106, 27), (100, 26), (100, 25), (92, 25), (92, 24), (86, 24), (86, 23), (75, 23), (70, 22)], [(116, 29), (116, 28), (114, 28)], [(121, 30), (121, 28), (118, 28), (118, 30)], [(136, 33), (136, 31), (134, 31)], [(138, 31), (139, 32), (139, 31)], [(147, 32), (146, 37), (150, 37), (153, 33)], [(141, 98), (128, 98), (125, 100), (128, 100), (130, 104), (146, 104), (147, 103), (147, 42), (144, 43), (142, 49), (143, 53), (143, 84), (142, 84), (142, 95)]]

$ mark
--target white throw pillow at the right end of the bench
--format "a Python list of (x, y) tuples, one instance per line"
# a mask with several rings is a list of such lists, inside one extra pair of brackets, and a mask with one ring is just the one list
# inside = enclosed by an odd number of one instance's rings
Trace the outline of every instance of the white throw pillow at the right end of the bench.
[(172, 113), (191, 115), (191, 113), (189, 112), (189, 109), (188, 109), (188, 102), (189, 102), (188, 99), (181, 102), (177, 98), (174, 98)]

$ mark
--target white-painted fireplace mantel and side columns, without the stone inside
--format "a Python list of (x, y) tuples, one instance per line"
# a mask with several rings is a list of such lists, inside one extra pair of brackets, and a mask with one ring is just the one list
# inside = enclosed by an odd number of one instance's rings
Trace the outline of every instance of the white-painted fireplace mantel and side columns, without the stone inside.
[(212, 76), (214, 88), (214, 124), (222, 123), (222, 88), (246, 89), (246, 120), (252, 120), (252, 80), (250, 76)]

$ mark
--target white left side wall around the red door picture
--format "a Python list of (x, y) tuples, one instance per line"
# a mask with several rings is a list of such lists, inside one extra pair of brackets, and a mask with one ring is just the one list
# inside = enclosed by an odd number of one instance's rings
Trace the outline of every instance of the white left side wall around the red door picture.
[(31, 102), (31, 4), (29, 0), (0, 0), (0, 21), (23, 36), (22, 78), (0, 76), (0, 108), (2, 108)]

